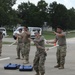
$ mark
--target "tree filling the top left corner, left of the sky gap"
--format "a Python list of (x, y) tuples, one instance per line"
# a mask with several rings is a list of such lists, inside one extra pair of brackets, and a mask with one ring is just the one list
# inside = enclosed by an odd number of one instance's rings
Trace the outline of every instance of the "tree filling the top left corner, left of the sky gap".
[(10, 11), (12, 11), (12, 6), (15, 4), (16, 0), (0, 0), (0, 25), (5, 26), (9, 24)]

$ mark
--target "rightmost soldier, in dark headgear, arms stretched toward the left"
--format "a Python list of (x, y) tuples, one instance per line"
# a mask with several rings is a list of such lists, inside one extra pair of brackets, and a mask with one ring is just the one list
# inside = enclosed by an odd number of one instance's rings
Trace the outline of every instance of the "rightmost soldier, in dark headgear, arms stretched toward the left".
[(57, 47), (57, 65), (54, 66), (55, 68), (64, 69), (65, 64), (65, 56), (66, 56), (66, 32), (63, 32), (61, 27), (57, 27), (57, 32), (54, 32), (56, 38), (53, 42), (49, 43), (56, 43), (58, 41)]

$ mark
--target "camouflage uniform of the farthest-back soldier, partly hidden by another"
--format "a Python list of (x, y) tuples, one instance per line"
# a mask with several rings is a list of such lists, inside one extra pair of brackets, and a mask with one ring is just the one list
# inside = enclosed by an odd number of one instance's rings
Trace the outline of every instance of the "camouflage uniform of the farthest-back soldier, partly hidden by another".
[(24, 58), (23, 54), (22, 54), (22, 47), (23, 47), (23, 43), (22, 43), (22, 37), (18, 37), (18, 42), (17, 42), (17, 56), (18, 58), (20, 58), (20, 52), (22, 55), (22, 58)]

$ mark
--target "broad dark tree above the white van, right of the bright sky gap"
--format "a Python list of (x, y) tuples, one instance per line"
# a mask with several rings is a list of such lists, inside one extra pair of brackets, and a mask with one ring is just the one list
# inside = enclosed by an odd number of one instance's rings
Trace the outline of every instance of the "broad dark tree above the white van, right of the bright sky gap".
[(34, 26), (35, 25), (35, 19), (36, 16), (35, 13), (37, 12), (37, 7), (28, 2), (28, 3), (21, 3), (21, 5), (18, 6), (18, 16), (23, 20), (23, 25), (26, 24), (28, 26)]

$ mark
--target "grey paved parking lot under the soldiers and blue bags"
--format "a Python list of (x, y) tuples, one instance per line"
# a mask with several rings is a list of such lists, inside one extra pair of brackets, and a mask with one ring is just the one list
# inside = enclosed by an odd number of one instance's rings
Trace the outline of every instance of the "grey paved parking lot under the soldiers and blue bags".
[[(46, 59), (46, 74), (45, 75), (75, 75), (75, 38), (67, 40), (67, 56), (64, 70), (55, 69), (56, 65), (56, 48), (47, 52)], [(33, 64), (36, 48), (31, 47), (30, 51), (30, 64)], [(4, 65), (8, 63), (22, 64), (23, 60), (16, 60), (16, 45), (8, 46), (3, 45), (3, 53), (0, 59), (10, 57), (9, 60), (0, 61), (0, 75), (34, 75), (35, 72), (19, 72), (19, 70), (4, 70)]]

